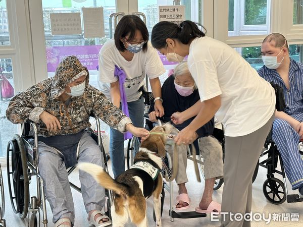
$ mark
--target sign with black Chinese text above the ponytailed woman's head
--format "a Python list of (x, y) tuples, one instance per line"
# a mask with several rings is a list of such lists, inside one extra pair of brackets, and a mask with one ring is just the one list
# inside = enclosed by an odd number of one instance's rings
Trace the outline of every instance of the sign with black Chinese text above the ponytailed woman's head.
[(185, 20), (185, 6), (159, 6), (159, 22), (180, 24)]

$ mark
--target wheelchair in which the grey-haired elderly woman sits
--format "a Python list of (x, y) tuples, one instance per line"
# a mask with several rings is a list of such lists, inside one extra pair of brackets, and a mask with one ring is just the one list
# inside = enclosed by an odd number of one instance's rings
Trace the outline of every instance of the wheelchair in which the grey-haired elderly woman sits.
[[(153, 128), (153, 124), (149, 122), (148, 119), (148, 113), (151, 104), (154, 103), (154, 96), (153, 93), (148, 92), (145, 87), (141, 87), (140, 91), (142, 92), (141, 97), (144, 98), (144, 119), (145, 119), (145, 129), (150, 131)], [(222, 129), (215, 128), (213, 135), (220, 144), (222, 145), (223, 149), (223, 159), (224, 159), (224, 133)], [(133, 136), (131, 139), (128, 140), (128, 146), (127, 146), (127, 168), (130, 168), (130, 166), (134, 163), (134, 157), (136, 153), (139, 150), (140, 146), (140, 139), (138, 137)], [(187, 158), (189, 160), (196, 159), (196, 162), (198, 164), (198, 168), (200, 173), (202, 174), (204, 178), (204, 162), (203, 162), (203, 156), (199, 153), (199, 150), (196, 150), (196, 157), (192, 156), (191, 148), (190, 146), (187, 146)], [(167, 190), (170, 193), (170, 220), (174, 221), (174, 218), (195, 218), (195, 217), (206, 217), (206, 213), (197, 213), (195, 211), (186, 211), (186, 212), (176, 212), (174, 209), (174, 200), (172, 198), (173, 195), (173, 179), (172, 179), (172, 158), (168, 152), (166, 152), (166, 157), (163, 159), (163, 169), (162, 169), (162, 175), (166, 179), (166, 182), (163, 184), (163, 190), (161, 195), (161, 215), (163, 212), (163, 205), (164, 205), (164, 199), (165, 199), (165, 190)], [(215, 181), (214, 190), (219, 189), (224, 180), (218, 179)], [(155, 211), (154, 211), (154, 220), (156, 221)]]

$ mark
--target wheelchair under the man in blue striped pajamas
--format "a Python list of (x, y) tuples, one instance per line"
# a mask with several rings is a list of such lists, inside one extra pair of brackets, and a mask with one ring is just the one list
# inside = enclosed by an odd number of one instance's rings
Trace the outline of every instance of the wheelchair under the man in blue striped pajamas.
[[(298, 151), (301, 155), (303, 155), (303, 151), (300, 149), (298, 149)], [(267, 155), (267, 158), (260, 161), (260, 158), (265, 155)], [(272, 131), (266, 138), (260, 158), (258, 160), (253, 179), (256, 179), (257, 177), (259, 165), (267, 168), (267, 179), (265, 180), (262, 188), (265, 198), (269, 202), (277, 205), (285, 202), (285, 200), (288, 203), (302, 202), (303, 198), (299, 198), (299, 195), (288, 194), (283, 160), (277, 148), (277, 145), (272, 139)], [(281, 171), (277, 169), (278, 160), (280, 163)], [(274, 174), (282, 175), (284, 183), (278, 178), (275, 178)]]

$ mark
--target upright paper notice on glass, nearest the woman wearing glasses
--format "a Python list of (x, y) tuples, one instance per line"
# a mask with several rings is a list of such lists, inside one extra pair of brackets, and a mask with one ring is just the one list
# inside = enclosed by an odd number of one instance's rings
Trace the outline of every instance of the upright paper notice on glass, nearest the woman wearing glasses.
[(103, 7), (82, 8), (85, 38), (100, 38), (105, 36)]

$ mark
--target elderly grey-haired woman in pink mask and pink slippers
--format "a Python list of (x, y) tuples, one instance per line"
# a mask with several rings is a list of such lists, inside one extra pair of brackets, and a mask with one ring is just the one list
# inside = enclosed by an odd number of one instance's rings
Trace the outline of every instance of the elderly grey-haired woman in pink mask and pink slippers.
[[(196, 89), (193, 78), (191, 77), (187, 62), (182, 62), (176, 66), (173, 76), (169, 76), (162, 86), (163, 107), (165, 115), (160, 118), (164, 122), (170, 122), (171, 116), (175, 112), (182, 112), (191, 108), (196, 103), (200, 102), (198, 90)], [(156, 122), (159, 117), (157, 111), (149, 113), (149, 120)], [(178, 134), (179, 130), (185, 128), (194, 119), (188, 119), (180, 125), (174, 125), (173, 134)], [(196, 212), (220, 212), (221, 204), (213, 201), (213, 187), (216, 179), (223, 177), (223, 160), (222, 160), (222, 146), (216, 138), (212, 135), (214, 131), (214, 119), (206, 123), (204, 126), (196, 131), (196, 140), (194, 141), (196, 149), (204, 157), (204, 171), (205, 171), (205, 188), (203, 196), (199, 202), (199, 207)], [(174, 142), (171, 139), (171, 142)], [(169, 141), (168, 141), (169, 142)], [(172, 155), (173, 146), (166, 145), (166, 150)], [(176, 209), (182, 210), (189, 207), (190, 199), (188, 197), (185, 183), (188, 182), (186, 176), (187, 165), (187, 146), (178, 146), (179, 161), (178, 172), (176, 175), (176, 183), (179, 187), (179, 195), (176, 198)]]

